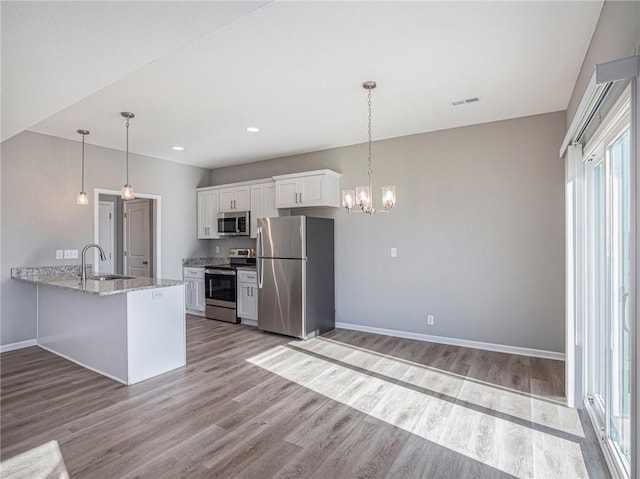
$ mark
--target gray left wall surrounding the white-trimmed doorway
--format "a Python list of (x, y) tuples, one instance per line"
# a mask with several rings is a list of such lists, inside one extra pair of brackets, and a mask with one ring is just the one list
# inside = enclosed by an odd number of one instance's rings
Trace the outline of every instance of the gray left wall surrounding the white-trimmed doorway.
[[(94, 188), (119, 190), (124, 153), (86, 146), (85, 191), (89, 206), (75, 204), (80, 191), (80, 143), (23, 132), (2, 143), (0, 342), (33, 339), (35, 288), (12, 281), (11, 267), (78, 264), (56, 260), (56, 249), (82, 249), (93, 241)], [(182, 258), (206, 256), (210, 244), (196, 239), (195, 188), (209, 170), (130, 155), (130, 180), (139, 193), (162, 196), (162, 276), (182, 278)]]

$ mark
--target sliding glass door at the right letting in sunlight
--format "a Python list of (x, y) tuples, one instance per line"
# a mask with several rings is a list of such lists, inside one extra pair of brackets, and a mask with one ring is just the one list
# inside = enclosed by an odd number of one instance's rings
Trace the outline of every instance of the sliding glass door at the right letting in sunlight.
[(621, 99), (585, 148), (585, 385), (605, 453), (629, 477), (631, 447), (631, 143)]

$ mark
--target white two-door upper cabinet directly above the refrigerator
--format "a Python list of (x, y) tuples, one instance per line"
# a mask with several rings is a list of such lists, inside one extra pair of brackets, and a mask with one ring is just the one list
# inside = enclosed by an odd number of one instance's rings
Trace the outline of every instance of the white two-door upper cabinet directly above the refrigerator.
[(306, 171), (274, 176), (277, 208), (340, 206), (340, 173), (332, 170)]

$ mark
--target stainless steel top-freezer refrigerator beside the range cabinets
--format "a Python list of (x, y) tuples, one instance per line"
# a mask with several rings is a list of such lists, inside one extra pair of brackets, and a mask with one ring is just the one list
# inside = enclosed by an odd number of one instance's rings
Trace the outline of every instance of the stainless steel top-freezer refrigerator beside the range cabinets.
[(309, 339), (335, 327), (333, 220), (258, 219), (258, 328)]

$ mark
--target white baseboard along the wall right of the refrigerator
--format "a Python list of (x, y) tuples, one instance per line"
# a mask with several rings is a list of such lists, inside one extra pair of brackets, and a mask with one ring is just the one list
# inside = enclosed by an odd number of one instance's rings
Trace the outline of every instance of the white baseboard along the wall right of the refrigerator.
[(382, 334), (396, 338), (416, 339), (429, 343), (449, 344), (451, 346), (462, 346), (464, 348), (484, 349), (497, 353), (518, 354), (520, 356), (531, 356), (534, 358), (555, 359), (564, 361), (564, 353), (546, 351), (544, 349), (521, 348), (519, 346), (507, 346), (505, 344), (483, 343), (480, 341), (470, 341), (468, 339), (447, 338), (444, 336), (431, 336), (429, 334), (411, 333), (408, 331), (398, 331), (395, 329), (375, 328), (372, 326), (361, 326), (359, 324), (336, 322), (336, 328), (351, 329), (364, 333)]

